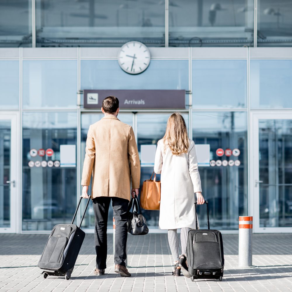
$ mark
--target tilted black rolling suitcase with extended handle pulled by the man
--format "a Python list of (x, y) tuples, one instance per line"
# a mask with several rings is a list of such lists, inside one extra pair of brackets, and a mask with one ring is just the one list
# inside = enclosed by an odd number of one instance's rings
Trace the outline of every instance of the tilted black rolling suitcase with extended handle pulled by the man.
[(79, 199), (73, 220), (71, 224), (56, 225), (47, 241), (43, 254), (38, 263), (38, 267), (42, 270), (44, 278), (51, 276), (65, 276), (69, 280), (74, 269), (78, 253), (85, 237), (85, 232), (80, 229), (81, 223), (85, 216), (90, 197), (86, 204), (79, 227), (73, 224), (77, 214), (77, 210), (81, 203), (82, 197)]

